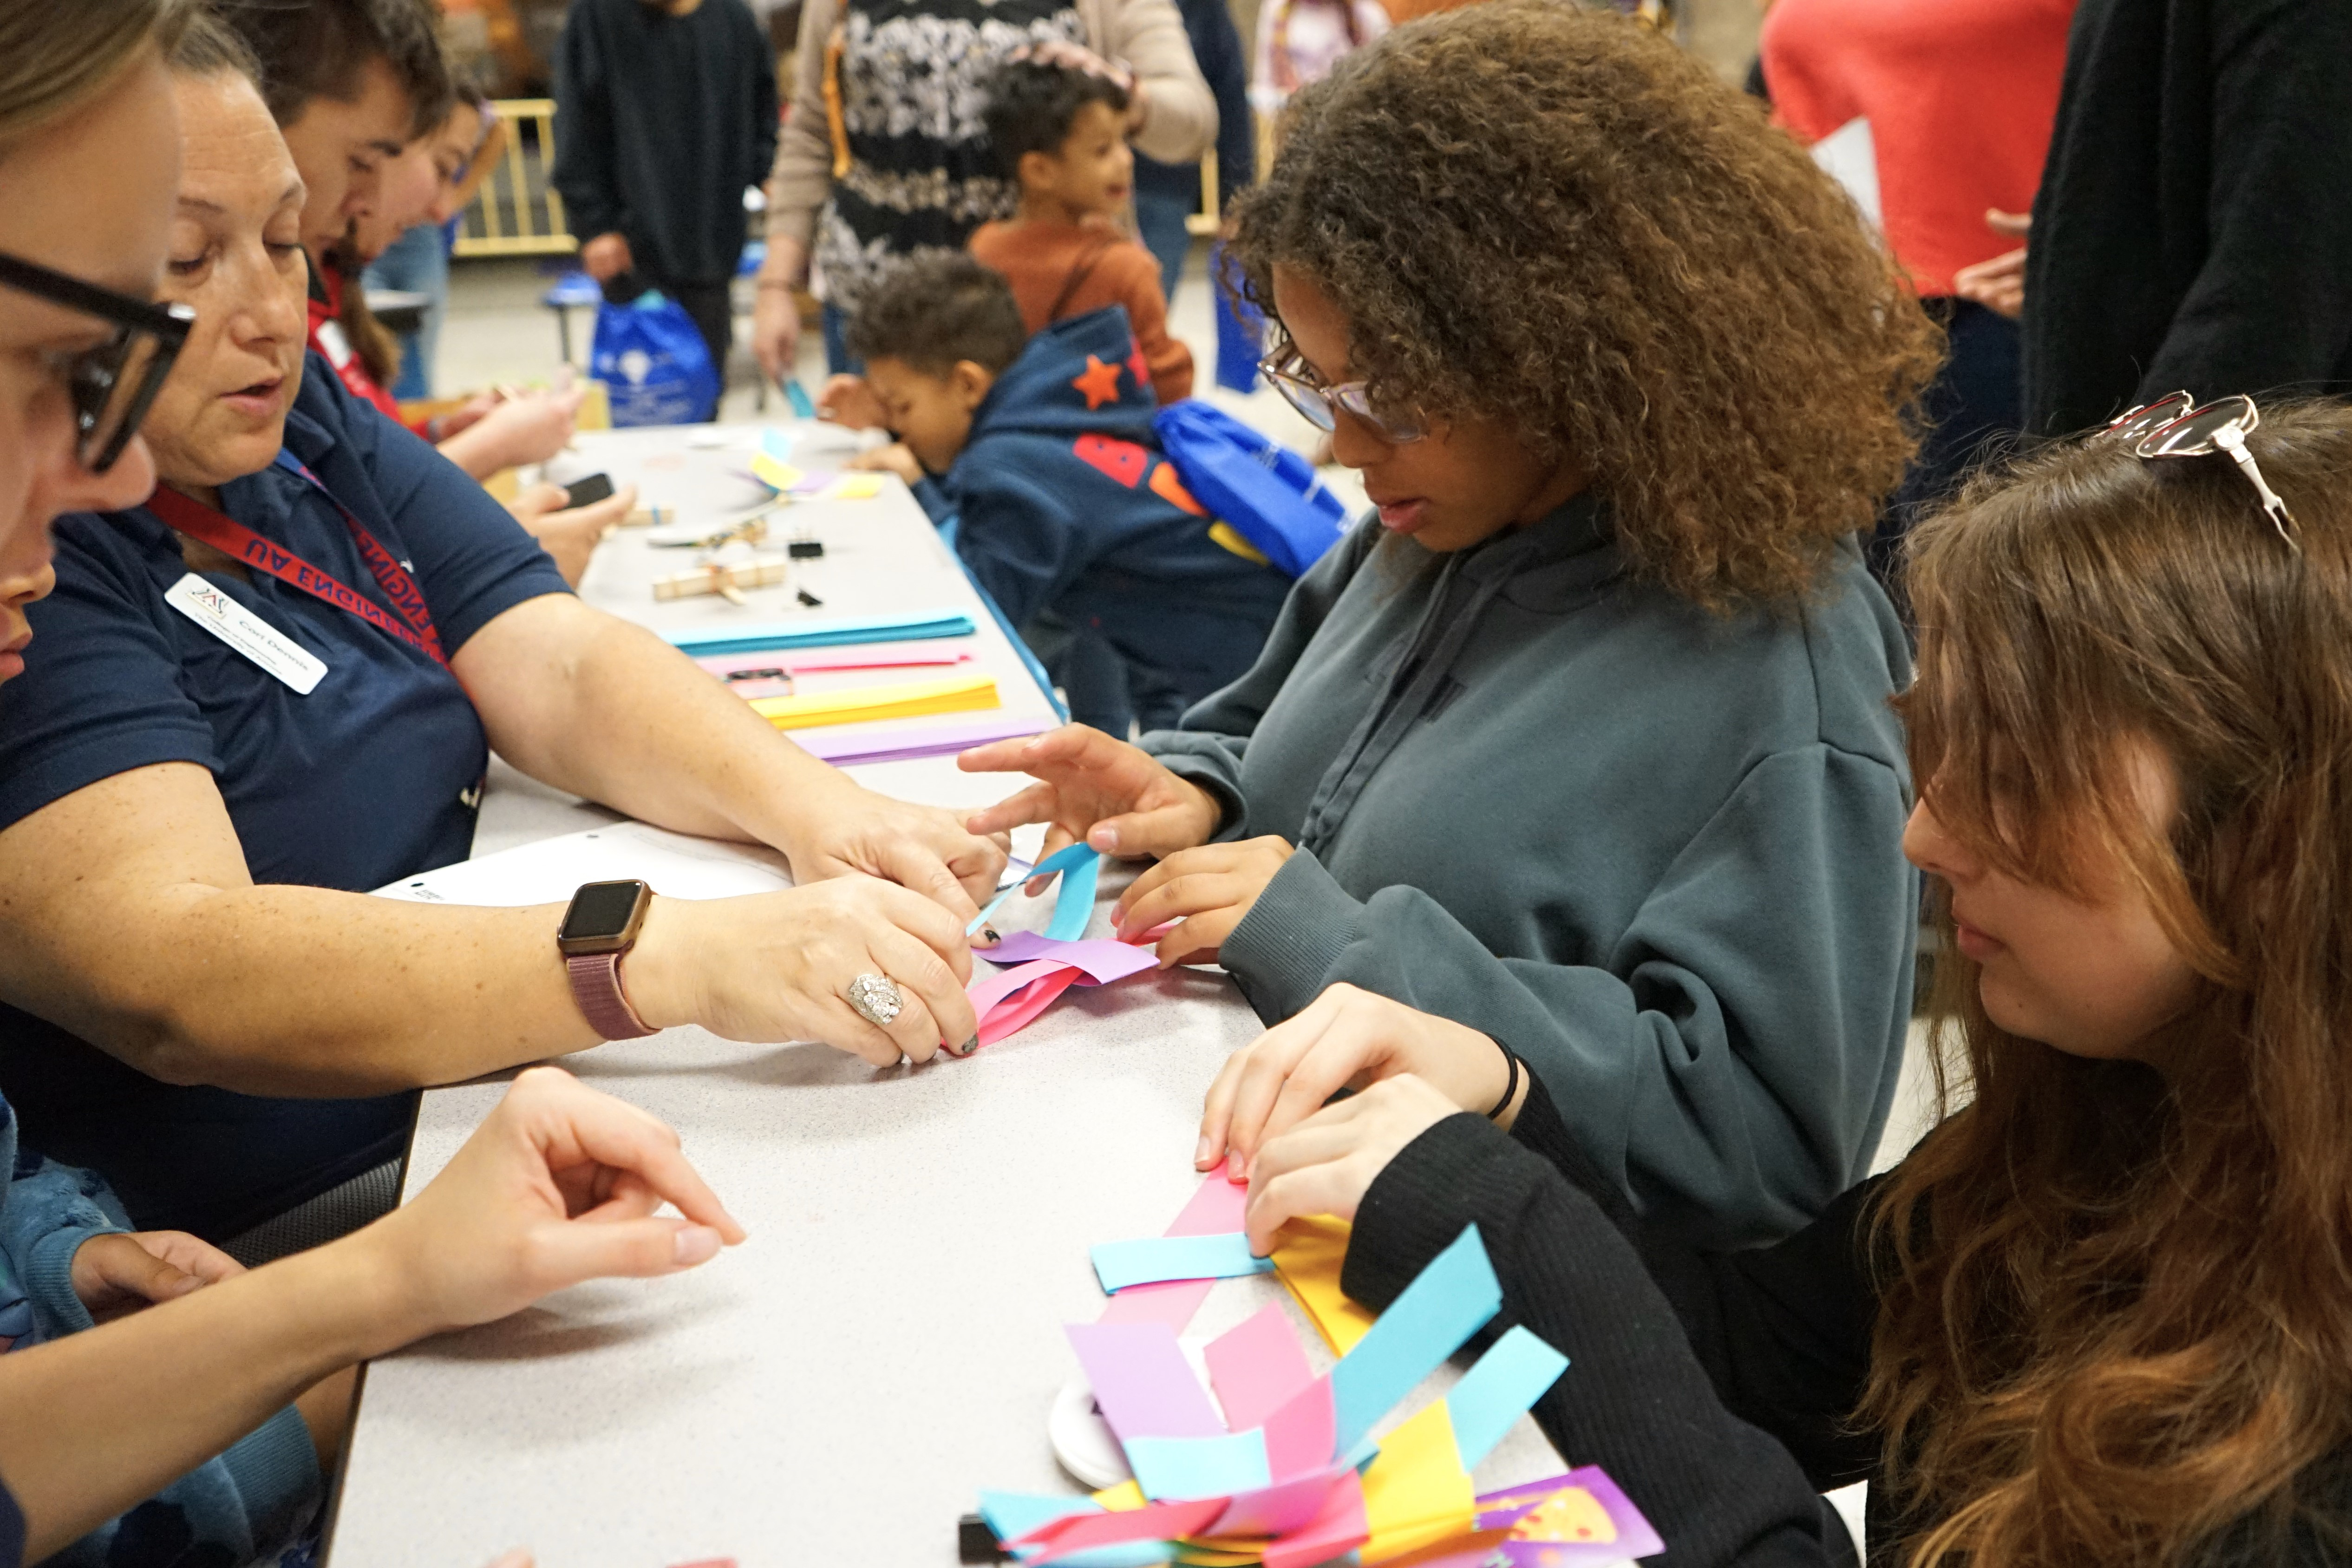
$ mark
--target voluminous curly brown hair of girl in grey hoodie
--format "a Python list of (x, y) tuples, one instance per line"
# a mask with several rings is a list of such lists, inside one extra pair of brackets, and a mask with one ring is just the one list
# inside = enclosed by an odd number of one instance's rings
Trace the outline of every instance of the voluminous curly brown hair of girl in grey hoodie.
[(1240, 205), (1350, 322), (1374, 400), (1573, 458), (1637, 571), (1729, 609), (1802, 595), (1877, 522), (1943, 334), (1762, 106), (1618, 16), (1491, 0), (1291, 99)]

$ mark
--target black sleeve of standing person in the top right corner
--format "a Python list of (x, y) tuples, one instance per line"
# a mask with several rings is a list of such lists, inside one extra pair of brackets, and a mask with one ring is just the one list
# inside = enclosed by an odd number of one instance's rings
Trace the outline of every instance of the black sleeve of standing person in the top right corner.
[(2136, 402), (2326, 383), (2352, 362), (2352, 5), (2211, 7), (2204, 266)]

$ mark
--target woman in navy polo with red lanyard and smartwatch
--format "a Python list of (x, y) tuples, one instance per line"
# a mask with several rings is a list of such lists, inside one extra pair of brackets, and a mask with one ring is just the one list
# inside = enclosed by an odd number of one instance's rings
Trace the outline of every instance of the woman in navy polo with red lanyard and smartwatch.
[[(198, 324), (146, 423), (165, 489), (61, 520), (0, 693), (0, 997), (24, 1009), (0, 1091), (26, 1143), (143, 1225), (230, 1239), (397, 1159), (423, 1084), (680, 1023), (873, 1063), (969, 1041), (962, 922), (1002, 846), (583, 607), (480, 484), (306, 374), (285, 141), (235, 68), (176, 94), (165, 299)], [(602, 992), (557, 954), (562, 907), (365, 898), (466, 858), (489, 748), (771, 844), (804, 886), (652, 900)], [(896, 983), (896, 1018), (851, 1004), (861, 976)]]

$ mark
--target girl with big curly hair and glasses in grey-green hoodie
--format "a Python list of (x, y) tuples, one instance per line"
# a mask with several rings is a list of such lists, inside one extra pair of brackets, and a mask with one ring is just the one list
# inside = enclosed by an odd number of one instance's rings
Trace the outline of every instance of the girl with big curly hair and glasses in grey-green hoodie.
[(1294, 115), (1235, 254), (1378, 512), (1181, 729), (969, 755), (1040, 780), (974, 823), (1157, 856), (1120, 929), (1305, 1011), (1228, 1067), (1204, 1166), (1402, 1027), (1505, 1121), (1524, 1058), (1644, 1213), (1788, 1234), (1863, 1173), (1910, 1018), (1907, 651), (1856, 531), (1936, 331), (1630, 21), (1416, 21)]

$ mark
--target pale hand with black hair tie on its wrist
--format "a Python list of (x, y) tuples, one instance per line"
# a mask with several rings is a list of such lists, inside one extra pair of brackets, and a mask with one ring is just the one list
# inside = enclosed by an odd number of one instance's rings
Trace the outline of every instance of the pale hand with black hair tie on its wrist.
[[(1192, 1164), (1228, 1159), (1235, 1180), (1254, 1175), (1258, 1150), (1310, 1119), (1341, 1088), (1411, 1074), (1454, 1110), (1486, 1114), (1510, 1086), (1503, 1048), (1477, 1030), (1357, 990), (1345, 980), (1315, 997), (1225, 1058), (1200, 1112)], [(1510, 1131), (1517, 1100), (1496, 1117)]]

